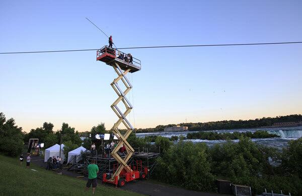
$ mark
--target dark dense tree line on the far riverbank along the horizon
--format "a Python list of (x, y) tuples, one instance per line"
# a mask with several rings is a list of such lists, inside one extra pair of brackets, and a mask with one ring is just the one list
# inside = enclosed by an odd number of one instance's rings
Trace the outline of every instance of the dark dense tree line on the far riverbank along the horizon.
[[(198, 122), (198, 123), (180, 123), (180, 126), (187, 126), (189, 131), (204, 131), (204, 130), (221, 130), (221, 129), (241, 129), (241, 128), (256, 128), (262, 126), (271, 126), (277, 122), (301, 122), (302, 115), (294, 114), (287, 116), (276, 116), (256, 118), (255, 120), (223, 120), (215, 122)], [(172, 127), (175, 124), (158, 125), (155, 128), (137, 129), (136, 132), (161, 132), (166, 127)]]

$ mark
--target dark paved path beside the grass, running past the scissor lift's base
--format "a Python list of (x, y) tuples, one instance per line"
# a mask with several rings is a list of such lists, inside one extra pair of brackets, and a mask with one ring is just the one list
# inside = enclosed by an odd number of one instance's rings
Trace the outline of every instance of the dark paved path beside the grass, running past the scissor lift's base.
[[(26, 157), (26, 154), (24, 154)], [(37, 164), (41, 167), (46, 168), (46, 163), (44, 163), (44, 159), (37, 156), (31, 156), (32, 163)], [(49, 171), (51, 172), (51, 171)], [(68, 171), (67, 169), (62, 170), (63, 175), (68, 175), (72, 177), (80, 176), (81, 174), (73, 171)], [(87, 177), (82, 177), (81, 179), (87, 180)], [(99, 184), (101, 184), (101, 180), (98, 180)], [(107, 184), (108, 186), (114, 186), (111, 184)], [(150, 196), (224, 196), (226, 194), (218, 194), (218, 193), (209, 193), (209, 192), (199, 192), (194, 190), (187, 190), (184, 188), (173, 187), (169, 185), (162, 185), (155, 183), (149, 180), (135, 180), (129, 183), (126, 183), (125, 187), (121, 189), (131, 190), (133, 192), (138, 192), (145, 195)], [(230, 195), (229, 195), (230, 196)]]

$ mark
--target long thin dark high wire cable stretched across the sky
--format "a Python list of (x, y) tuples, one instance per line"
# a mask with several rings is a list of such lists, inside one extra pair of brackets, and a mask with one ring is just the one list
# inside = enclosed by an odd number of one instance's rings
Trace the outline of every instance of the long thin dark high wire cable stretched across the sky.
[[(120, 49), (144, 49), (144, 48), (180, 48), (180, 47), (215, 47), (215, 46), (251, 46), (251, 45), (277, 45), (277, 44), (302, 44), (302, 42), (270, 42), (270, 43), (245, 43), (245, 44), (210, 44), (210, 45), (179, 45), (179, 46), (148, 46), (148, 47), (128, 47)], [(97, 51), (99, 49), (83, 50), (56, 50), (56, 51), (30, 51), (30, 52), (3, 52), (0, 54), (26, 54), (26, 53), (55, 53), (55, 52), (77, 52), (77, 51)]]

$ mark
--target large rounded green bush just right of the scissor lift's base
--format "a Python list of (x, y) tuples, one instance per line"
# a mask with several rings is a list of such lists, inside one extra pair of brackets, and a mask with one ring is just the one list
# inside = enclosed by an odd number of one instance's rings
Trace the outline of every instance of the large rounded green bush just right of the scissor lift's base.
[(159, 158), (156, 169), (161, 181), (194, 190), (213, 190), (214, 176), (205, 144), (181, 141), (172, 145)]

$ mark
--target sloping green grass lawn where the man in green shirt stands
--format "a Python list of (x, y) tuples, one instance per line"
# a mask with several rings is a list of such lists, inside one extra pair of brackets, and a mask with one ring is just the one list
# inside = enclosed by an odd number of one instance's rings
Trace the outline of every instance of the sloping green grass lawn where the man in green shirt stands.
[[(92, 195), (92, 188), (84, 191), (83, 179), (58, 175), (33, 163), (30, 169), (25, 165), (25, 161), (20, 165), (18, 158), (0, 155), (0, 195)], [(95, 195), (141, 195), (98, 183)]]

